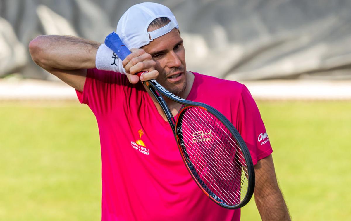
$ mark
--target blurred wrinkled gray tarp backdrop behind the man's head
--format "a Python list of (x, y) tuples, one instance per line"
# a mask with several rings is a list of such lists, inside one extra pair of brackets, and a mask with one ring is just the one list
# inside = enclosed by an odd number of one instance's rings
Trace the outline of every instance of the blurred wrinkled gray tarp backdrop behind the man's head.
[[(103, 42), (142, 1), (0, 0), (0, 77), (53, 80), (28, 43), (40, 34)], [(351, 79), (350, 0), (160, 0), (176, 15), (188, 70), (234, 80)]]

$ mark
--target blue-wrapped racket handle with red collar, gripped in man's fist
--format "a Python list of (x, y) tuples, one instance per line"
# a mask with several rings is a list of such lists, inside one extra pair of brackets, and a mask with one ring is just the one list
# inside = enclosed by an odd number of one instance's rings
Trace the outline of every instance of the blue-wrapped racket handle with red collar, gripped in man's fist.
[[(112, 32), (105, 39), (107, 47), (111, 48), (122, 61), (131, 54), (131, 51), (124, 45), (117, 33)], [(136, 75), (139, 77), (147, 71), (140, 71)]]

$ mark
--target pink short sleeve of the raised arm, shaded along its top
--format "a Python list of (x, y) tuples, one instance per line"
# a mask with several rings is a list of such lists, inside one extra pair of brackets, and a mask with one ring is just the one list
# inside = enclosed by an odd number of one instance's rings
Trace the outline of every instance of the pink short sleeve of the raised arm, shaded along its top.
[(111, 111), (125, 102), (127, 77), (113, 71), (88, 69), (83, 91), (76, 90), (80, 103), (87, 104), (95, 115)]

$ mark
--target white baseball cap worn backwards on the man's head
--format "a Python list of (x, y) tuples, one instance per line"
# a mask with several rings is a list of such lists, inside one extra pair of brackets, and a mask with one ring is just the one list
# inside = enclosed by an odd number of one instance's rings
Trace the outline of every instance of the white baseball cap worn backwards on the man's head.
[[(148, 32), (150, 23), (160, 17), (171, 20), (167, 25)], [(130, 7), (120, 18), (116, 33), (128, 49), (140, 48), (149, 44), (154, 39), (167, 34), (173, 28), (179, 28), (176, 17), (171, 10), (164, 5), (143, 2)]]

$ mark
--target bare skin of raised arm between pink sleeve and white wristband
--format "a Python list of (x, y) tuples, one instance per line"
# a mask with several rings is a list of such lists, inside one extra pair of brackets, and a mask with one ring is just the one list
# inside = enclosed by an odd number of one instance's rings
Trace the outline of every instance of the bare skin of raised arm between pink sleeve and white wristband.
[(29, 43), (29, 53), (40, 67), (82, 91), (86, 70), (95, 68), (100, 44), (73, 36), (41, 35)]

